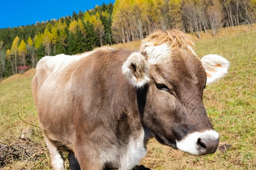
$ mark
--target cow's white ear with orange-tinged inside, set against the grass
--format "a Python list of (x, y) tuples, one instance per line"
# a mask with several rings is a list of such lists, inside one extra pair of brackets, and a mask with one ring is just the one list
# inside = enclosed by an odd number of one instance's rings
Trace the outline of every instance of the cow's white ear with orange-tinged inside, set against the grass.
[(230, 62), (227, 59), (216, 54), (204, 56), (201, 58), (201, 62), (207, 74), (207, 84), (211, 84), (224, 77), (230, 67)]

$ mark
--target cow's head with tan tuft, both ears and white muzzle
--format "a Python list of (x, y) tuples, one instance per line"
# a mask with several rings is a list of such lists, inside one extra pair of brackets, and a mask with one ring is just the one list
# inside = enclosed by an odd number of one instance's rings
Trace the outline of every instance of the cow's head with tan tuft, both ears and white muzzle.
[(122, 66), (137, 88), (143, 124), (161, 143), (194, 155), (214, 153), (218, 133), (203, 104), (203, 91), (227, 74), (230, 63), (221, 56), (199, 59), (192, 43), (177, 30), (156, 31), (143, 40)]

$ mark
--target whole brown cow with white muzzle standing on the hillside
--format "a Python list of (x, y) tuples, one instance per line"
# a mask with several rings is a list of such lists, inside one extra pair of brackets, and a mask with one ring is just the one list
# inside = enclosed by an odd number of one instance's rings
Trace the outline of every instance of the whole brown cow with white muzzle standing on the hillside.
[(131, 170), (151, 138), (192, 155), (215, 153), (218, 133), (203, 91), (227, 74), (218, 55), (199, 59), (186, 34), (158, 30), (137, 51), (96, 48), (43, 57), (32, 80), (52, 167)]

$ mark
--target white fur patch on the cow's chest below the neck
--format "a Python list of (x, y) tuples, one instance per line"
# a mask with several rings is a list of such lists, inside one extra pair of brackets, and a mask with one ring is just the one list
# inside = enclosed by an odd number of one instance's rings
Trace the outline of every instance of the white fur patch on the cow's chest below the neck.
[(130, 137), (126, 155), (121, 160), (120, 170), (131, 170), (140, 164), (140, 160), (146, 156), (147, 147), (145, 142), (148, 141), (145, 132), (141, 129), (140, 136)]

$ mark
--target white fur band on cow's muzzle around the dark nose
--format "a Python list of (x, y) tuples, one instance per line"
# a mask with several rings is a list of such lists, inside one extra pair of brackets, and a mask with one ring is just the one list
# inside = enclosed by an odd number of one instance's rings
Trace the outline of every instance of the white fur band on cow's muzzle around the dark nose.
[(215, 130), (191, 133), (181, 141), (176, 140), (177, 148), (192, 155), (200, 155), (200, 146), (198, 145), (199, 138), (215, 141), (218, 139), (218, 133)]

